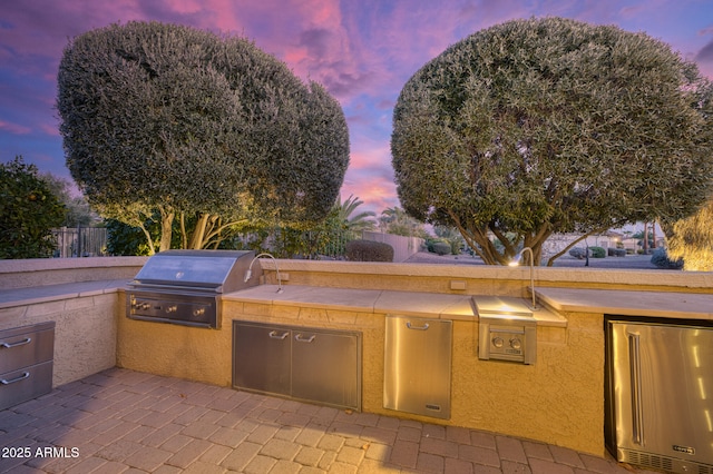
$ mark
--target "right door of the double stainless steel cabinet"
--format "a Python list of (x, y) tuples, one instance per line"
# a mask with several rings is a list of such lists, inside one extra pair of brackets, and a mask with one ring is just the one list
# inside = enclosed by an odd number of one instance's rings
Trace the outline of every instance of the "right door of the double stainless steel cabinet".
[(292, 330), (292, 396), (361, 409), (359, 338), (339, 332)]

